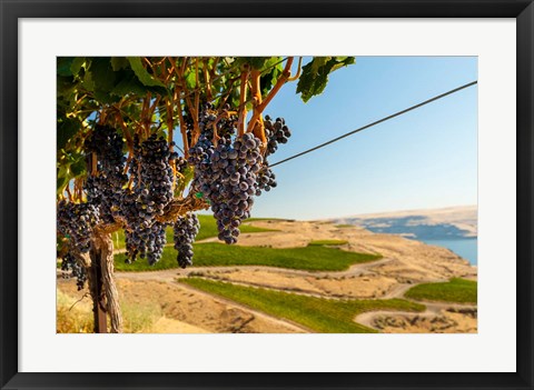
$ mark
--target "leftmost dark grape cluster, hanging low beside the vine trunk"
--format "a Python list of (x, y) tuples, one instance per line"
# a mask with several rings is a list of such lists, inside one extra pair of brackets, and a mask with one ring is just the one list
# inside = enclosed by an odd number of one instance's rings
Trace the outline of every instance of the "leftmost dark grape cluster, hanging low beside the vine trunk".
[(99, 213), (95, 204), (72, 203), (61, 200), (58, 203), (58, 230), (70, 239), (71, 246), (86, 253), (90, 248), (92, 227), (99, 223)]

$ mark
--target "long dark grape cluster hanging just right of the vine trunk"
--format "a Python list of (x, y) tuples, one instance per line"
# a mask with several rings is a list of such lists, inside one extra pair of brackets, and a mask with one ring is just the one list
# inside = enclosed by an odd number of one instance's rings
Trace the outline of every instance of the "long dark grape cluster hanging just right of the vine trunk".
[(161, 258), (167, 242), (166, 223), (155, 218), (164, 214), (165, 207), (172, 200), (172, 168), (176, 158), (164, 138), (150, 136), (145, 142), (135, 138), (134, 156), (129, 173), (134, 190), (122, 197), (121, 216), (126, 220), (127, 262), (137, 256), (155, 264)]

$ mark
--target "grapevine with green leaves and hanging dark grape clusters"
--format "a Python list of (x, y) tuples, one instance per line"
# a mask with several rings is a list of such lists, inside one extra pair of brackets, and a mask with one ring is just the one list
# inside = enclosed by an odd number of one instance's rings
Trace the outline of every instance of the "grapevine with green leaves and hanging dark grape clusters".
[[(107, 253), (112, 261), (110, 233), (119, 229), (128, 263), (156, 264), (172, 227), (177, 263), (190, 266), (200, 229), (195, 212), (208, 208), (218, 239), (238, 241), (255, 197), (277, 187), (269, 156), (291, 136), (284, 119), (264, 114), (269, 102), (295, 80), (307, 100), (324, 89), (325, 74), (354, 60), (314, 58), (303, 68), (299, 59), (291, 77), (293, 62), (293, 57), (58, 59), (57, 232), (68, 247), (61, 267), (78, 288), (92, 278), (85, 267), (112, 272), (98, 257)], [(103, 250), (110, 242), (111, 252)], [(89, 261), (77, 262), (80, 256)], [(105, 289), (111, 299), (115, 288)], [(93, 302), (101, 297), (95, 293)]]

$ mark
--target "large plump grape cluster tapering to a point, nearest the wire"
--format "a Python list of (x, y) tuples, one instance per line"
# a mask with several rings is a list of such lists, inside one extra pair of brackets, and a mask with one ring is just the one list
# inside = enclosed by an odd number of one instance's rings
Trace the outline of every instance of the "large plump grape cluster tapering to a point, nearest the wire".
[(209, 200), (218, 238), (226, 243), (237, 242), (241, 220), (250, 216), (256, 173), (263, 164), (260, 143), (259, 139), (246, 133), (234, 142), (230, 138), (220, 138), (215, 148), (202, 134), (189, 150), (189, 162), (196, 168), (197, 189)]

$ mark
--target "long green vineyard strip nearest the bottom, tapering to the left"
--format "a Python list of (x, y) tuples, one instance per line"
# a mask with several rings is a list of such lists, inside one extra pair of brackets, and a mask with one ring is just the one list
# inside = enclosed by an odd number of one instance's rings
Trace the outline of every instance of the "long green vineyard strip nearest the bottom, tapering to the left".
[(280, 291), (256, 289), (199, 278), (179, 279), (181, 283), (222, 296), (253, 309), (286, 318), (320, 333), (374, 333), (375, 330), (353, 321), (354, 317), (373, 310), (423, 311), (423, 304), (402, 299), (329, 300)]

